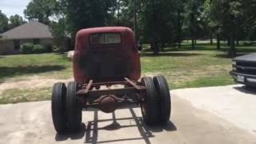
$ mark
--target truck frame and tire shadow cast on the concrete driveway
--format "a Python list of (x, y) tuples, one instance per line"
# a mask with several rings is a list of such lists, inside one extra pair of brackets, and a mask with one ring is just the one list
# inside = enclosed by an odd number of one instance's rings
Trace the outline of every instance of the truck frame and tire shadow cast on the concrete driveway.
[[(56, 134), (55, 140), (56, 141), (66, 141), (68, 138), (70, 139), (81, 139), (85, 135), (85, 143), (108, 143), (108, 142), (130, 142), (133, 140), (144, 140), (146, 144), (150, 144), (150, 138), (154, 137), (152, 133), (158, 133), (165, 131), (174, 131), (177, 130), (177, 127), (174, 126), (174, 123), (168, 122), (166, 126), (146, 126), (143, 122), (142, 117), (138, 117), (133, 108), (129, 108), (130, 114), (132, 115), (131, 118), (116, 118), (115, 114), (112, 113), (112, 118), (110, 119), (99, 119), (98, 118), (98, 110), (94, 110), (94, 120), (88, 122), (87, 128), (84, 124), (82, 124), (82, 129), (78, 134), (66, 134), (66, 135), (58, 135)], [(118, 121), (120, 120), (134, 120), (134, 125), (126, 125), (121, 126)], [(99, 122), (112, 122), (108, 126), (98, 127)], [(114, 139), (114, 140), (107, 140), (107, 141), (98, 141), (98, 130), (118, 130), (126, 127), (134, 127), (138, 128), (138, 131), (142, 137), (140, 138), (122, 138), (122, 139)]]

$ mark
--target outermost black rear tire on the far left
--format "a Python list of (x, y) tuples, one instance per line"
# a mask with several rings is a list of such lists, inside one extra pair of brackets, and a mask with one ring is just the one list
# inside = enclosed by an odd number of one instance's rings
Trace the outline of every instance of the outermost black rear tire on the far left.
[(66, 86), (55, 83), (51, 95), (51, 114), (58, 134), (66, 132)]

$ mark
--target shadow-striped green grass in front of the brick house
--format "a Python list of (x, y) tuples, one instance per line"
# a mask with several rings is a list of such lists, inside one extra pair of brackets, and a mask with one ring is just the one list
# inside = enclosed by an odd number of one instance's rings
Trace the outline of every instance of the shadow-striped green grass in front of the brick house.
[(71, 61), (66, 54), (26, 54), (0, 57), (0, 82), (10, 78), (26, 79), (38, 75), (46, 78), (70, 78)]

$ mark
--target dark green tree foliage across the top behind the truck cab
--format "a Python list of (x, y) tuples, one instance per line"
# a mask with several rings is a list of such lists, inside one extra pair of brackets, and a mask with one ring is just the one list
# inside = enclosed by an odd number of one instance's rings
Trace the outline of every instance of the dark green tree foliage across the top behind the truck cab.
[(196, 48), (197, 39), (216, 38), (217, 48), (227, 40), (234, 56), (235, 42), (256, 39), (256, 0), (32, 0), (24, 13), (49, 24), (58, 39), (97, 26), (134, 29), (137, 16), (136, 36), (150, 42), (154, 54), (184, 39)]

